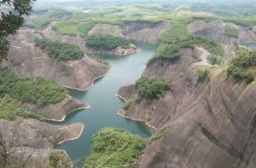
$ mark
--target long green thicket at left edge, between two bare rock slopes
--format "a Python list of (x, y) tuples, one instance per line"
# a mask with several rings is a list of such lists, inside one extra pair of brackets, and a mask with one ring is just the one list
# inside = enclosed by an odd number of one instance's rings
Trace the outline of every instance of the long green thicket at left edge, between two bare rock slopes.
[(67, 96), (67, 90), (53, 80), (23, 79), (8, 68), (0, 69), (0, 95), (10, 95), (21, 102), (56, 104)]

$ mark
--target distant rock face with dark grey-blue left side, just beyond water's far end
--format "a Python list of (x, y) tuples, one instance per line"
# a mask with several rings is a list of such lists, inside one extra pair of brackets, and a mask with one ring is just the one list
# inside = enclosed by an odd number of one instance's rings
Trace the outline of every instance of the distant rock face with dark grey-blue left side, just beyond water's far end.
[(151, 24), (146, 22), (130, 22), (123, 26), (123, 34), (127, 37), (140, 39), (145, 42), (156, 43), (158, 37), (170, 27), (170, 20)]

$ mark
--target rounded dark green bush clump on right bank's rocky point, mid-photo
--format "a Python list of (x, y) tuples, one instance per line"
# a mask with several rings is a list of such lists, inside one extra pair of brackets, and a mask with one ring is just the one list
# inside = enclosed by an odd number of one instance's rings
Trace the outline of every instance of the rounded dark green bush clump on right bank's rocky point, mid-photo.
[(135, 87), (138, 91), (138, 100), (159, 99), (170, 91), (170, 81), (162, 77), (141, 77), (136, 81)]

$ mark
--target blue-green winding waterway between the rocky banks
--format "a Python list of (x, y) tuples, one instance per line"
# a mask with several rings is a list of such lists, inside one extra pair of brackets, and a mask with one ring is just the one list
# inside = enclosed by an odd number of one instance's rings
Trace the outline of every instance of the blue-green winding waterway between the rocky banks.
[[(132, 134), (148, 137), (149, 131), (143, 123), (122, 118), (116, 112), (124, 104), (115, 94), (121, 85), (137, 80), (146, 68), (146, 62), (150, 59), (156, 49), (155, 45), (146, 42), (138, 42), (142, 50), (129, 56), (110, 56), (100, 54), (99, 56), (110, 63), (111, 68), (108, 75), (94, 81), (94, 86), (89, 91), (70, 90), (71, 96), (84, 102), (88, 102), (91, 108), (79, 110), (67, 115), (64, 122), (58, 125), (72, 123), (83, 123), (85, 129), (78, 140), (64, 142), (56, 148), (66, 150), (75, 166), (83, 164), (83, 160), (90, 153), (91, 136), (99, 129), (105, 127), (117, 127), (127, 129)], [(80, 160), (78, 160), (80, 159)]]

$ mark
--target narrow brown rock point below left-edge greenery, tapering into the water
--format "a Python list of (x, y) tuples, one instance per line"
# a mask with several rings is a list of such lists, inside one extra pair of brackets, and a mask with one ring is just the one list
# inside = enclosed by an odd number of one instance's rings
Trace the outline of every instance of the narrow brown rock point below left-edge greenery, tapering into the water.
[(89, 108), (89, 104), (80, 102), (73, 99), (71, 96), (67, 96), (66, 99), (62, 100), (57, 104), (49, 105), (37, 105), (37, 104), (24, 104), (24, 107), (28, 110), (35, 111), (43, 118), (51, 121), (64, 121), (66, 116), (70, 112), (75, 110), (81, 110)]

